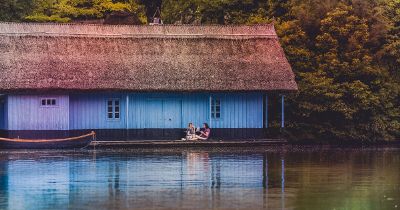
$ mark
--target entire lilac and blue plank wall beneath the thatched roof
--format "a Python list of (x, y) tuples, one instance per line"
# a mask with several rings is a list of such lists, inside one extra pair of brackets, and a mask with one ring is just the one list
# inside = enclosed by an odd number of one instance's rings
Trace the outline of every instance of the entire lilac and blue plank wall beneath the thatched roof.
[[(210, 96), (221, 101), (221, 117), (211, 121)], [(42, 98), (56, 98), (57, 106), (41, 106)], [(107, 118), (108, 99), (119, 99), (119, 119)], [(263, 127), (261, 93), (8, 95), (4, 101), (0, 104), (0, 129), (15, 131), (174, 129), (185, 128), (188, 122), (196, 127), (203, 122), (212, 128)]]

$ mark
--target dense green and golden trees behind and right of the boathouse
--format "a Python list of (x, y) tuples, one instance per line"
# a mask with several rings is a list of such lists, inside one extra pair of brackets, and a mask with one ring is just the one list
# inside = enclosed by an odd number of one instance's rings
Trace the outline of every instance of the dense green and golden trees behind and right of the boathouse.
[(293, 139), (400, 138), (400, 0), (2, 0), (0, 21), (93, 21), (128, 12), (147, 24), (275, 24), (300, 91)]

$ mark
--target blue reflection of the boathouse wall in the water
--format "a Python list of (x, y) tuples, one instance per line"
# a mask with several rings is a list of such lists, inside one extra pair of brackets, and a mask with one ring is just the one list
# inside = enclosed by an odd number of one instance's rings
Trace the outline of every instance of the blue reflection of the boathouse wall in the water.
[[(279, 187), (285, 208), (284, 159), (265, 153), (99, 153), (10, 161), (0, 167), (0, 199), (5, 200), (0, 200), (1, 206), (10, 209), (32, 205), (42, 209), (85, 205), (276, 208), (269, 200), (276, 201)], [(277, 172), (281, 172), (281, 186), (269, 183), (276, 183)]]

